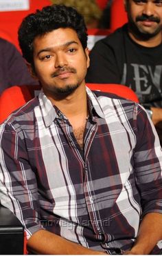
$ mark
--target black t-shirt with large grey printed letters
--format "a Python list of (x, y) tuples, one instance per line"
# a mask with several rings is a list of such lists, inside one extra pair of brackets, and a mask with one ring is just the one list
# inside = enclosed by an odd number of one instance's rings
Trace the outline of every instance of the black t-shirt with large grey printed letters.
[(121, 83), (137, 93), (141, 104), (162, 107), (162, 44), (140, 46), (127, 25), (98, 41), (90, 53), (89, 83)]

